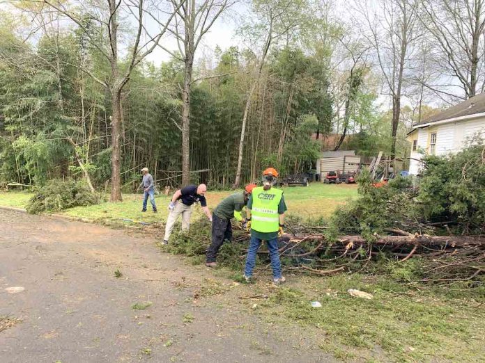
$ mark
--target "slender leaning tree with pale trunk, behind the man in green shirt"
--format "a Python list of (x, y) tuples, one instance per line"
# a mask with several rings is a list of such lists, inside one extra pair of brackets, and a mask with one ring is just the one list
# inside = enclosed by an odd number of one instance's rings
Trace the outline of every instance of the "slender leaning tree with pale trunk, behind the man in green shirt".
[(305, 7), (306, 2), (302, 0), (253, 1), (253, 11), (258, 19), (254, 20), (252, 24), (245, 26), (243, 33), (249, 37), (256, 38), (256, 41), (259, 40), (259, 42), (261, 42), (261, 53), (256, 56), (256, 76), (252, 82), (252, 86), (249, 88), (249, 92), (247, 92), (246, 105), (242, 115), (238, 167), (236, 169), (236, 180), (233, 184), (234, 188), (238, 188), (240, 184), (247, 117), (249, 115), (249, 108), (251, 107), (254, 92), (261, 79), (261, 72), (265, 65), (268, 51), (270, 50), (270, 47), (284, 35), (287, 36), (286, 42), (288, 43), (288, 37), (291, 31), (297, 29), (303, 22), (302, 13), (304, 12)]

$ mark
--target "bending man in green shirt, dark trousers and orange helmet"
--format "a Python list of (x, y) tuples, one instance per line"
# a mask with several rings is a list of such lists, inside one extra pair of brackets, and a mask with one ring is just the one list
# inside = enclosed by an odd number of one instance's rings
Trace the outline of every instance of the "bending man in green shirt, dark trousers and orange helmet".
[(213, 212), (212, 243), (206, 253), (206, 266), (215, 267), (217, 252), (224, 240), (232, 241), (231, 219), (240, 220), (245, 227), (246, 221), (241, 216), (242, 208), (247, 204), (251, 191), (256, 184), (249, 184), (243, 192), (234, 193), (220, 202)]

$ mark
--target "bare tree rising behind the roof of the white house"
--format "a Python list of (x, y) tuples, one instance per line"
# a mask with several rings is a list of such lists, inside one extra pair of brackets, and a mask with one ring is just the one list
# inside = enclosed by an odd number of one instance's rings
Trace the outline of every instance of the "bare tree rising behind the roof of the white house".
[(434, 40), (440, 71), (438, 81), (424, 86), (446, 98), (484, 92), (485, 0), (422, 0), (419, 19)]

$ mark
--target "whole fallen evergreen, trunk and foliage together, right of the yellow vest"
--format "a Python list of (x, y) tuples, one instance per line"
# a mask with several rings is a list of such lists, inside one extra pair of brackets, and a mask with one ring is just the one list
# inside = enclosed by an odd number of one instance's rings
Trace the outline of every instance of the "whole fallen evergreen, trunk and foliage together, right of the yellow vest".
[(337, 210), (328, 227), (289, 225), (280, 252), (291, 269), (324, 275), (418, 258), (422, 282), (483, 282), (485, 146), (428, 156), (424, 165), (418, 181), (397, 177), (378, 188), (363, 172), (359, 199)]

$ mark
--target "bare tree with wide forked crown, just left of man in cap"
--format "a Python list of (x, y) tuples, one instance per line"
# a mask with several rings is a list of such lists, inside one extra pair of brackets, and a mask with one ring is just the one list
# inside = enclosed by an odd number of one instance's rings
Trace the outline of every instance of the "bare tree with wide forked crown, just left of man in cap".
[[(121, 136), (122, 136), (122, 111), (121, 94), (123, 88), (130, 80), (132, 71), (143, 59), (151, 54), (167, 31), (167, 26), (172, 21), (176, 10), (164, 12), (160, 9), (160, 1), (144, 0), (106, 0), (100, 2), (86, 1), (59, 1), (39, 0), (29, 1), (44, 5), (41, 11), (56, 11), (72, 21), (90, 43), (95, 51), (109, 63), (109, 76), (102, 79), (96, 76), (95, 71), (81, 66), (91, 78), (103, 86), (110, 97), (111, 115), (111, 202), (122, 200), (121, 197)], [(47, 6), (47, 7), (46, 7)], [(163, 13), (164, 22), (160, 22), (160, 29), (153, 37), (146, 32), (146, 14), (153, 11)], [(125, 49), (121, 47), (120, 23), (136, 24), (134, 37), (128, 44), (127, 62), (120, 65), (120, 53)], [(107, 40), (102, 41), (102, 40)]]

